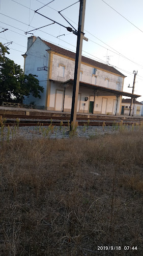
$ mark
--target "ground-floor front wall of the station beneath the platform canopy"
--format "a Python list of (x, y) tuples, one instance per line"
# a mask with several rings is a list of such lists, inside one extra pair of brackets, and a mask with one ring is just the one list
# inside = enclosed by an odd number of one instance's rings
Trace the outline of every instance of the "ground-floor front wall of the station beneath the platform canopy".
[[(72, 91), (73, 86), (70, 84), (66, 87), (65, 90), (65, 102), (64, 102), (64, 111), (71, 110), (72, 104)], [(51, 82), (51, 97), (50, 97), (50, 105), (49, 110), (58, 110), (55, 108), (56, 100), (58, 100), (58, 92), (63, 92), (64, 98), (64, 85), (60, 84), (60, 82)], [(88, 97), (88, 100), (85, 101), (85, 97)], [(116, 96), (113, 96), (109, 93), (98, 92), (95, 94), (95, 102), (94, 102), (94, 113), (101, 114), (102, 113), (102, 101), (103, 98), (106, 99), (106, 110), (105, 114), (115, 114), (117, 99)], [(78, 97), (78, 112), (89, 112), (90, 101), (94, 101), (94, 92), (91, 89), (87, 88), (79, 88), (79, 97)], [(118, 99), (118, 108), (117, 114), (120, 114), (120, 97)], [(63, 100), (61, 100), (61, 109), (63, 110)], [(104, 113), (103, 113), (104, 114)]]

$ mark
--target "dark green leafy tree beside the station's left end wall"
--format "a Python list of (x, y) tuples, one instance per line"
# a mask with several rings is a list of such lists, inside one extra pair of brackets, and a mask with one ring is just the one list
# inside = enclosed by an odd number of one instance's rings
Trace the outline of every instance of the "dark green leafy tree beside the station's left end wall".
[(32, 94), (34, 97), (41, 98), (40, 93), (44, 88), (39, 86), (36, 75), (24, 75), (23, 70), (13, 60), (5, 57), (8, 48), (0, 44), (0, 103), (22, 102), (24, 96)]

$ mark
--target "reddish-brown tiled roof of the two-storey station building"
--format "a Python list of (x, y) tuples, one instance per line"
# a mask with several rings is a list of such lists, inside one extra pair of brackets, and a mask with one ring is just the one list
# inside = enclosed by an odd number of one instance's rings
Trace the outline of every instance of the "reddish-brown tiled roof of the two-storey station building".
[[(41, 39), (42, 40), (42, 39)], [(68, 51), (64, 48), (61, 48), (59, 46), (55, 46), (53, 44), (51, 44), (51, 42), (47, 42), (47, 41), (44, 41), (42, 40), (48, 47), (50, 47), (50, 49), (54, 52), (57, 52), (57, 53), (61, 53), (62, 55), (65, 55), (65, 56), (68, 56), (68, 57), (71, 57), (73, 59), (75, 59), (75, 53), (74, 52), (71, 52), (71, 51)], [(85, 62), (85, 63), (88, 63), (90, 65), (93, 65), (97, 68), (100, 68), (100, 69), (104, 69), (105, 71), (109, 71), (109, 72), (112, 72), (112, 73), (115, 73), (119, 76), (123, 76), (123, 77), (126, 77), (125, 75), (123, 75), (121, 72), (119, 72), (117, 69), (111, 67), (111, 66), (108, 66), (104, 63), (101, 63), (101, 62), (98, 62), (94, 59), (90, 59), (90, 58), (87, 58), (87, 57), (84, 57), (82, 56), (81, 57), (81, 61), (82, 62)]]

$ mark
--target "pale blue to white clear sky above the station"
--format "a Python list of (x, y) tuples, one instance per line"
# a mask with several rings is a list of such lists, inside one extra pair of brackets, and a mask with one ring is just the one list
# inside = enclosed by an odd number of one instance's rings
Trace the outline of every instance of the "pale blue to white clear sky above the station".
[[(56, 22), (71, 27), (58, 13), (78, 0), (0, 0), (0, 41), (8, 46), (8, 57), (23, 69), (27, 37), (35, 36), (59, 45), (70, 51), (76, 51), (77, 36), (66, 28), (51, 24), (52, 22), (35, 13), (38, 12)], [(51, 2), (51, 3), (50, 3)], [(115, 10), (113, 10), (115, 9)], [(137, 71), (135, 94), (141, 95), (137, 100), (143, 101), (143, 1), (138, 0), (87, 0), (85, 8), (84, 33), (89, 41), (83, 40), (82, 55), (116, 67), (127, 76), (124, 91), (132, 93), (134, 74)], [(61, 12), (71, 25), (78, 28), (79, 2)], [(44, 28), (38, 29), (40, 27)], [(63, 35), (65, 34), (65, 35)], [(59, 37), (59, 35), (62, 35)], [(57, 38), (58, 36), (58, 38)], [(124, 56), (124, 57), (123, 57)], [(125, 98), (125, 97), (124, 97)]]

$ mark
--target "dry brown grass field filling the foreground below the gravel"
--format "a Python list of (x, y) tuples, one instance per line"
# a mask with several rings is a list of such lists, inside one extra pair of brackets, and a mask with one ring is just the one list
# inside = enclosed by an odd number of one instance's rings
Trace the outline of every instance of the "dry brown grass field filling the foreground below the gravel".
[(0, 255), (141, 256), (142, 149), (141, 131), (4, 142)]

